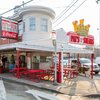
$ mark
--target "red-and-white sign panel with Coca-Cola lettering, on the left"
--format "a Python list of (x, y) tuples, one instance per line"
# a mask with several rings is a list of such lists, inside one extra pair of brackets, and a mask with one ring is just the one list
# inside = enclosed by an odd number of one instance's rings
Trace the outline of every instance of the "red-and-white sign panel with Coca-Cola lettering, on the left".
[(6, 18), (1, 19), (1, 37), (3, 38), (18, 38), (18, 23)]

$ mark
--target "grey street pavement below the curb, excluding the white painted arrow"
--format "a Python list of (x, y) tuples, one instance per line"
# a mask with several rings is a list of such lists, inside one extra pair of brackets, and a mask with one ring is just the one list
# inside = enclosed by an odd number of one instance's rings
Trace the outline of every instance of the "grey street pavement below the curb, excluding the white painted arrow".
[[(35, 89), (38, 91), (42, 91), (44, 93), (53, 94), (58, 98), (58, 100), (100, 100), (100, 95), (89, 95), (89, 96), (69, 96), (65, 94), (60, 93), (54, 93), (49, 90), (41, 90), (39, 88), (28, 86), (28, 85), (22, 85), (18, 83), (11, 83), (9, 81), (4, 81), (4, 86), (6, 89), (6, 95), (7, 100), (38, 100), (31, 94), (25, 93), (27, 90)], [(41, 100), (47, 100), (47, 99), (41, 99)]]

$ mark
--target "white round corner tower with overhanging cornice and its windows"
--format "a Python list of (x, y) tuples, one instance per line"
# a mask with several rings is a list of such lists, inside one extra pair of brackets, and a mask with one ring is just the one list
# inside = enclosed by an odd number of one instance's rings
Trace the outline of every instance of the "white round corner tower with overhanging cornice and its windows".
[(19, 21), (19, 33), (23, 35), (23, 42), (48, 39), (55, 12), (44, 6), (26, 6), (18, 10), (12, 18)]

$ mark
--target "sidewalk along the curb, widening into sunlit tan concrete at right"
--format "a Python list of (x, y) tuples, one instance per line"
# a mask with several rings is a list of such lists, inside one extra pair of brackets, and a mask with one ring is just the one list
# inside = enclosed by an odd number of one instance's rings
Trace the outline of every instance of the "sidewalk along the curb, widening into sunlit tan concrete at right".
[(39, 83), (32, 82), (26, 79), (17, 79), (8, 74), (0, 74), (3, 80), (28, 84), (42, 89), (48, 89), (58, 93), (63, 93), (70, 96), (100, 94), (100, 80), (90, 79), (84, 76), (78, 76), (74, 79), (67, 79), (64, 83), (54, 86), (53, 82), (40, 81)]

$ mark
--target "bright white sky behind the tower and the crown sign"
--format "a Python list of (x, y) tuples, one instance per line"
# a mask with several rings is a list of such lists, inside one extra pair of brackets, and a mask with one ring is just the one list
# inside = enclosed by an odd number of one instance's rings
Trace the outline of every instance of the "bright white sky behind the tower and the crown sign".
[[(14, 8), (16, 5), (21, 5), (22, 1), (29, 0), (1, 0), (0, 14)], [(74, 5), (70, 5), (71, 2)], [(99, 4), (96, 0), (33, 0), (28, 3), (29, 5), (42, 5), (53, 9), (56, 13), (55, 20), (53, 21), (53, 29), (64, 28), (66, 32), (73, 31), (72, 22), (84, 19), (84, 24), (90, 24), (89, 34), (95, 38), (95, 45), (99, 44)], [(67, 9), (66, 13), (62, 12)], [(75, 10), (76, 9), (76, 10)], [(75, 10), (75, 11), (74, 11)], [(11, 16), (13, 11), (6, 13), (2, 16)], [(59, 20), (59, 15), (62, 15)], [(57, 21), (56, 21), (57, 20)]]

